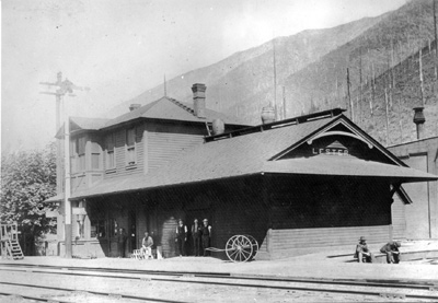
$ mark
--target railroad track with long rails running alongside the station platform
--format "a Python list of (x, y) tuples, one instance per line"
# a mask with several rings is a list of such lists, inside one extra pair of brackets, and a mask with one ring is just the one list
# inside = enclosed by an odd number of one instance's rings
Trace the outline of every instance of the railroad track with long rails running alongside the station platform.
[[(401, 281), (401, 280), (345, 280), (345, 279), (309, 279), (309, 278), (278, 278), (265, 276), (231, 275), (227, 272), (196, 272), (196, 271), (159, 271), (131, 270), (114, 268), (85, 268), (65, 266), (41, 266), (24, 264), (0, 265), (1, 271), (21, 271), (32, 273), (79, 276), (106, 279), (123, 279), (147, 282), (170, 282), (187, 284), (205, 284), (212, 287), (229, 287), (241, 289), (268, 289), (283, 291), (324, 292), (365, 296), (382, 296), (390, 299), (430, 300), (438, 301), (438, 281)], [(0, 281), (0, 284), (4, 282)], [(5, 282), (8, 283), (8, 282)], [(41, 285), (44, 288), (44, 285)], [(69, 291), (72, 291), (71, 289)], [(88, 291), (88, 290), (83, 290)], [(90, 292), (90, 291), (88, 291)], [(99, 295), (108, 293), (93, 292)], [(148, 300), (151, 302), (176, 302), (172, 300), (141, 298), (127, 294), (112, 293), (124, 299)], [(181, 301), (178, 301), (181, 302)]]

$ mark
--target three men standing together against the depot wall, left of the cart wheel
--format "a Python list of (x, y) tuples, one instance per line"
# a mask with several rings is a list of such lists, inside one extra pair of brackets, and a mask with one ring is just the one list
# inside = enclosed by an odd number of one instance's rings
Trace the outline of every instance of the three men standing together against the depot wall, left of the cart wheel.
[[(178, 220), (178, 225), (175, 231), (176, 237), (176, 248), (177, 255), (185, 256), (186, 255), (186, 245), (187, 245), (187, 225), (184, 224), (182, 219)], [(195, 219), (192, 224), (191, 235), (193, 240), (193, 254), (194, 256), (208, 256), (210, 247), (210, 238), (211, 238), (211, 225), (208, 224), (208, 220), (204, 219), (203, 224), (198, 223), (198, 219)]]

